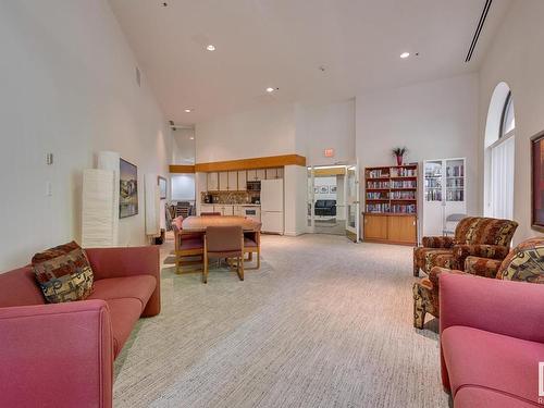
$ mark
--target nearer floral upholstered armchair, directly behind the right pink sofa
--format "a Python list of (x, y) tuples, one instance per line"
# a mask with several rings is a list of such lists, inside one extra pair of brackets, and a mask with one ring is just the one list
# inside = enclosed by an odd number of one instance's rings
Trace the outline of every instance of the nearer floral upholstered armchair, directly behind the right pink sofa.
[(544, 283), (544, 237), (519, 244), (503, 260), (469, 256), (465, 272), (434, 267), (429, 277), (413, 284), (413, 326), (423, 329), (426, 313), (440, 318), (438, 276), (442, 273), (472, 274), (505, 281)]

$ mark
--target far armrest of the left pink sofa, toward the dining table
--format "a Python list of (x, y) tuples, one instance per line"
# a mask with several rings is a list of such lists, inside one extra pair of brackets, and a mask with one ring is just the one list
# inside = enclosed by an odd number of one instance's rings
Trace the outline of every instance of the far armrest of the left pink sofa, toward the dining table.
[(95, 280), (151, 275), (157, 286), (149, 298), (143, 317), (159, 314), (161, 311), (161, 270), (159, 247), (120, 247), (85, 249), (92, 268)]

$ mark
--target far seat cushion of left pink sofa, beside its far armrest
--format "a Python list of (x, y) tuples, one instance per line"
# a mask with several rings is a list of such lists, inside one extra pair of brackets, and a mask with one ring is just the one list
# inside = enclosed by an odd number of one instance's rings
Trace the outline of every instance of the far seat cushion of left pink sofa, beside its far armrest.
[(141, 313), (156, 286), (157, 281), (151, 275), (109, 277), (95, 282), (95, 289), (88, 299), (137, 299), (140, 301)]

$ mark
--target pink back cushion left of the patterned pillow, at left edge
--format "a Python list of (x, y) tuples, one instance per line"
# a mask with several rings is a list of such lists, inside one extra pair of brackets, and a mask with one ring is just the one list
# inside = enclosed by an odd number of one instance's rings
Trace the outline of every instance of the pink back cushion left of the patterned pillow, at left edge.
[(0, 273), (0, 308), (45, 302), (44, 294), (29, 265)]

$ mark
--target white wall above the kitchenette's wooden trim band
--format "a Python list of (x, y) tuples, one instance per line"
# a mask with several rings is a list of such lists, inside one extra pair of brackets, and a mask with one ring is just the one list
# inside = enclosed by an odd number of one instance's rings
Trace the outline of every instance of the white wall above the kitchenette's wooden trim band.
[(295, 108), (270, 104), (196, 125), (196, 162), (295, 152)]

